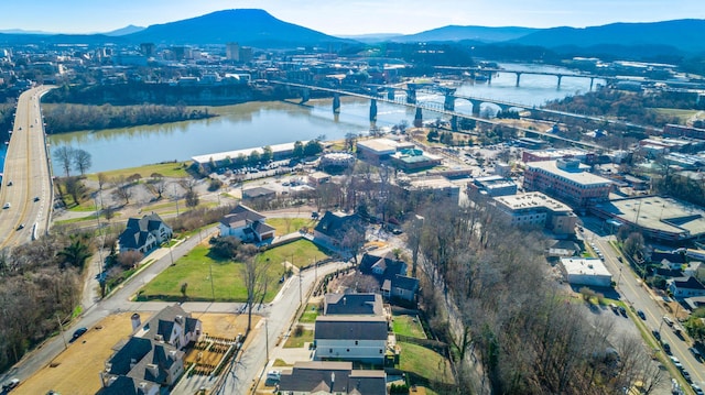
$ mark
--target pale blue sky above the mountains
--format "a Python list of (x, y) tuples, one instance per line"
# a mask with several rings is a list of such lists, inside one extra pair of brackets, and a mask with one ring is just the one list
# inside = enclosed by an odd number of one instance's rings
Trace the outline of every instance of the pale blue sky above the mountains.
[(0, 31), (110, 32), (242, 8), (332, 35), (705, 19), (703, 0), (2, 0)]

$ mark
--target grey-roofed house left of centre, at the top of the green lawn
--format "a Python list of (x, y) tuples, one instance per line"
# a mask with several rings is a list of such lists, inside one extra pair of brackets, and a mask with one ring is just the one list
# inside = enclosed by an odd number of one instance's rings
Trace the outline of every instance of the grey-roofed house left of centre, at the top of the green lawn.
[(251, 208), (238, 205), (220, 219), (220, 235), (232, 235), (243, 242), (262, 242), (274, 238), (274, 228), (265, 223), (267, 217)]

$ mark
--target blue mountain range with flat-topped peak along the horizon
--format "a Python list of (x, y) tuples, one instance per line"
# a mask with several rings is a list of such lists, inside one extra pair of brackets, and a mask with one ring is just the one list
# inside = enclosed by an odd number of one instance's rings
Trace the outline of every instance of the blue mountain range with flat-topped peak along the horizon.
[[(379, 42), (466, 42), (542, 46), (563, 52), (620, 54), (625, 48), (653, 48), (669, 55), (705, 54), (705, 20), (612, 23), (590, 28), (533, 29), (448, 25), (409, 35), (368, 34), (336, 37), (281, 21), (264, 10), (236, 9), (148, 28), (127, 26), (104, 34), (51, 34), (0, 31), (0, 43), (143, 43), (203, 45), (237, 42), (259, 48), (339, 47)], [(628, 52), (628, 51), (627, 51)]]

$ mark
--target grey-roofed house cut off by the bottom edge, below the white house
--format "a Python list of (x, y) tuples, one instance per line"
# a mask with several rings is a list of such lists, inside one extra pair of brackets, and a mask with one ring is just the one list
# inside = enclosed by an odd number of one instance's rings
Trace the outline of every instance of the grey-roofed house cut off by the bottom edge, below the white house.
[(387, 374), (381, 370), (354, 370), (351, 362), (295, 362), (282, 372), (279, 391), (289, 395), (386, 395)]

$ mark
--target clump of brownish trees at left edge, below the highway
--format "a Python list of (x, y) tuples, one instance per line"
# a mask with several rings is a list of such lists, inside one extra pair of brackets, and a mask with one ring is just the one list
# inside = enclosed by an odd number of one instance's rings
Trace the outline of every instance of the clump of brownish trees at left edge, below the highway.
[(80, 303), (83, 270), (97, 245), (89, 233), (57, 230), (0, 250), (0, 371), (68, 322)]

